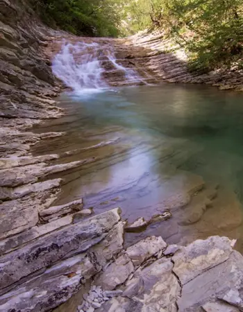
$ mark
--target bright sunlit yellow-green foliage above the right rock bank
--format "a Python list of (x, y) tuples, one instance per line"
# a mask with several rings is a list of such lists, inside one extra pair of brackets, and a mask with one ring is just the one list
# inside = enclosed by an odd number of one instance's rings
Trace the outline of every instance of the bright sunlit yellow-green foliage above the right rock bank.
[(133, 0), (132, 33), (160, 28), (190, 54), (192, 69), (239, 63), (243, 56), (242, 0)]

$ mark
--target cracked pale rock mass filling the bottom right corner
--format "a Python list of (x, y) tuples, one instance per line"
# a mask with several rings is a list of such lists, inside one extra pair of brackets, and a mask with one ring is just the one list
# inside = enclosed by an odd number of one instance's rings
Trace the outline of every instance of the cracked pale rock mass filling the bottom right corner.
[[(144, 254), (150, 243), (137, 254)], [(169, 254), (160, 245), (159, 252), (133, 268), (131, 275), (124, 275), (121, 284), (120, 272), (110, 270), (117, 260), (129, 257), (129, 249), (109, 266), (103, 268), (99, 278), (80, 296), (78, 311), (102, 312), (151, 312), (151, 311), (242, 311), (243, 258), (233, 250), (235, 241), (226, 237), (211, 236), (188, 245), (168, 246)], [(120, 260), (119, 260), (120, 261)], [(128, 260), (127, 260), (128, 261)], [(121, 263), (121, 265), (123, 265)], [(123, 269), (121, 268), (121, 271)], [(101, 279), (103, 277), (103, 280)], [(107, 281), (115, 283), (115, 291), (106, 291)], [(97, 286), (97, 281), (99, 285)], [(115, 286), (112, 285), (112, 287)], [(76, 298), (77, 300), (77, 298)], [(65, 311), (62, 306), (56, 312)], [(70, 309), (70, 312), (76, 309)]]

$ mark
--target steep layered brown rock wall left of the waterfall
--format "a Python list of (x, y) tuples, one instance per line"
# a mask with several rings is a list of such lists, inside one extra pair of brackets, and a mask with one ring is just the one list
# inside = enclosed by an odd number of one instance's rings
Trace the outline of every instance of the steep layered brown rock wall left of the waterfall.
[(59, 88), (42, 52), (42, 46), (54, 33), (47, 31), (31, 10), (28, 12), (24, 1), (1, 1), (0, 20), (0, 155), (24, 155), (31, 143), (27, 137), (32, 141), (37, 138), (20, 135), (19, 130), (40, 119), (60, 116), (60, 109), (51, 99)]

